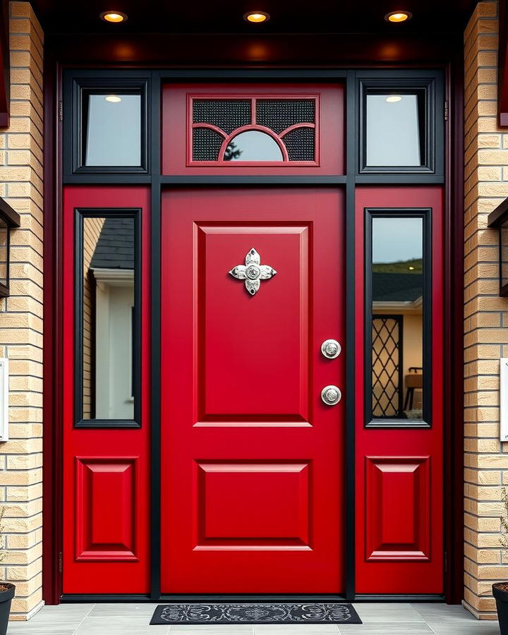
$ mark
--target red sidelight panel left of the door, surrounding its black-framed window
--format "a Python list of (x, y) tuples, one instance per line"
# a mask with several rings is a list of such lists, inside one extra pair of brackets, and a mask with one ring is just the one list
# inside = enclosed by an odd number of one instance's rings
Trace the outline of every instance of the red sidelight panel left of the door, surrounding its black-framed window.
[[(63, 593), (150, 591), (149, 200), (139, 187), (64, 191)], [(75, 210), (85, 208), (141, 210), (140, 428), (75, 428)]]

